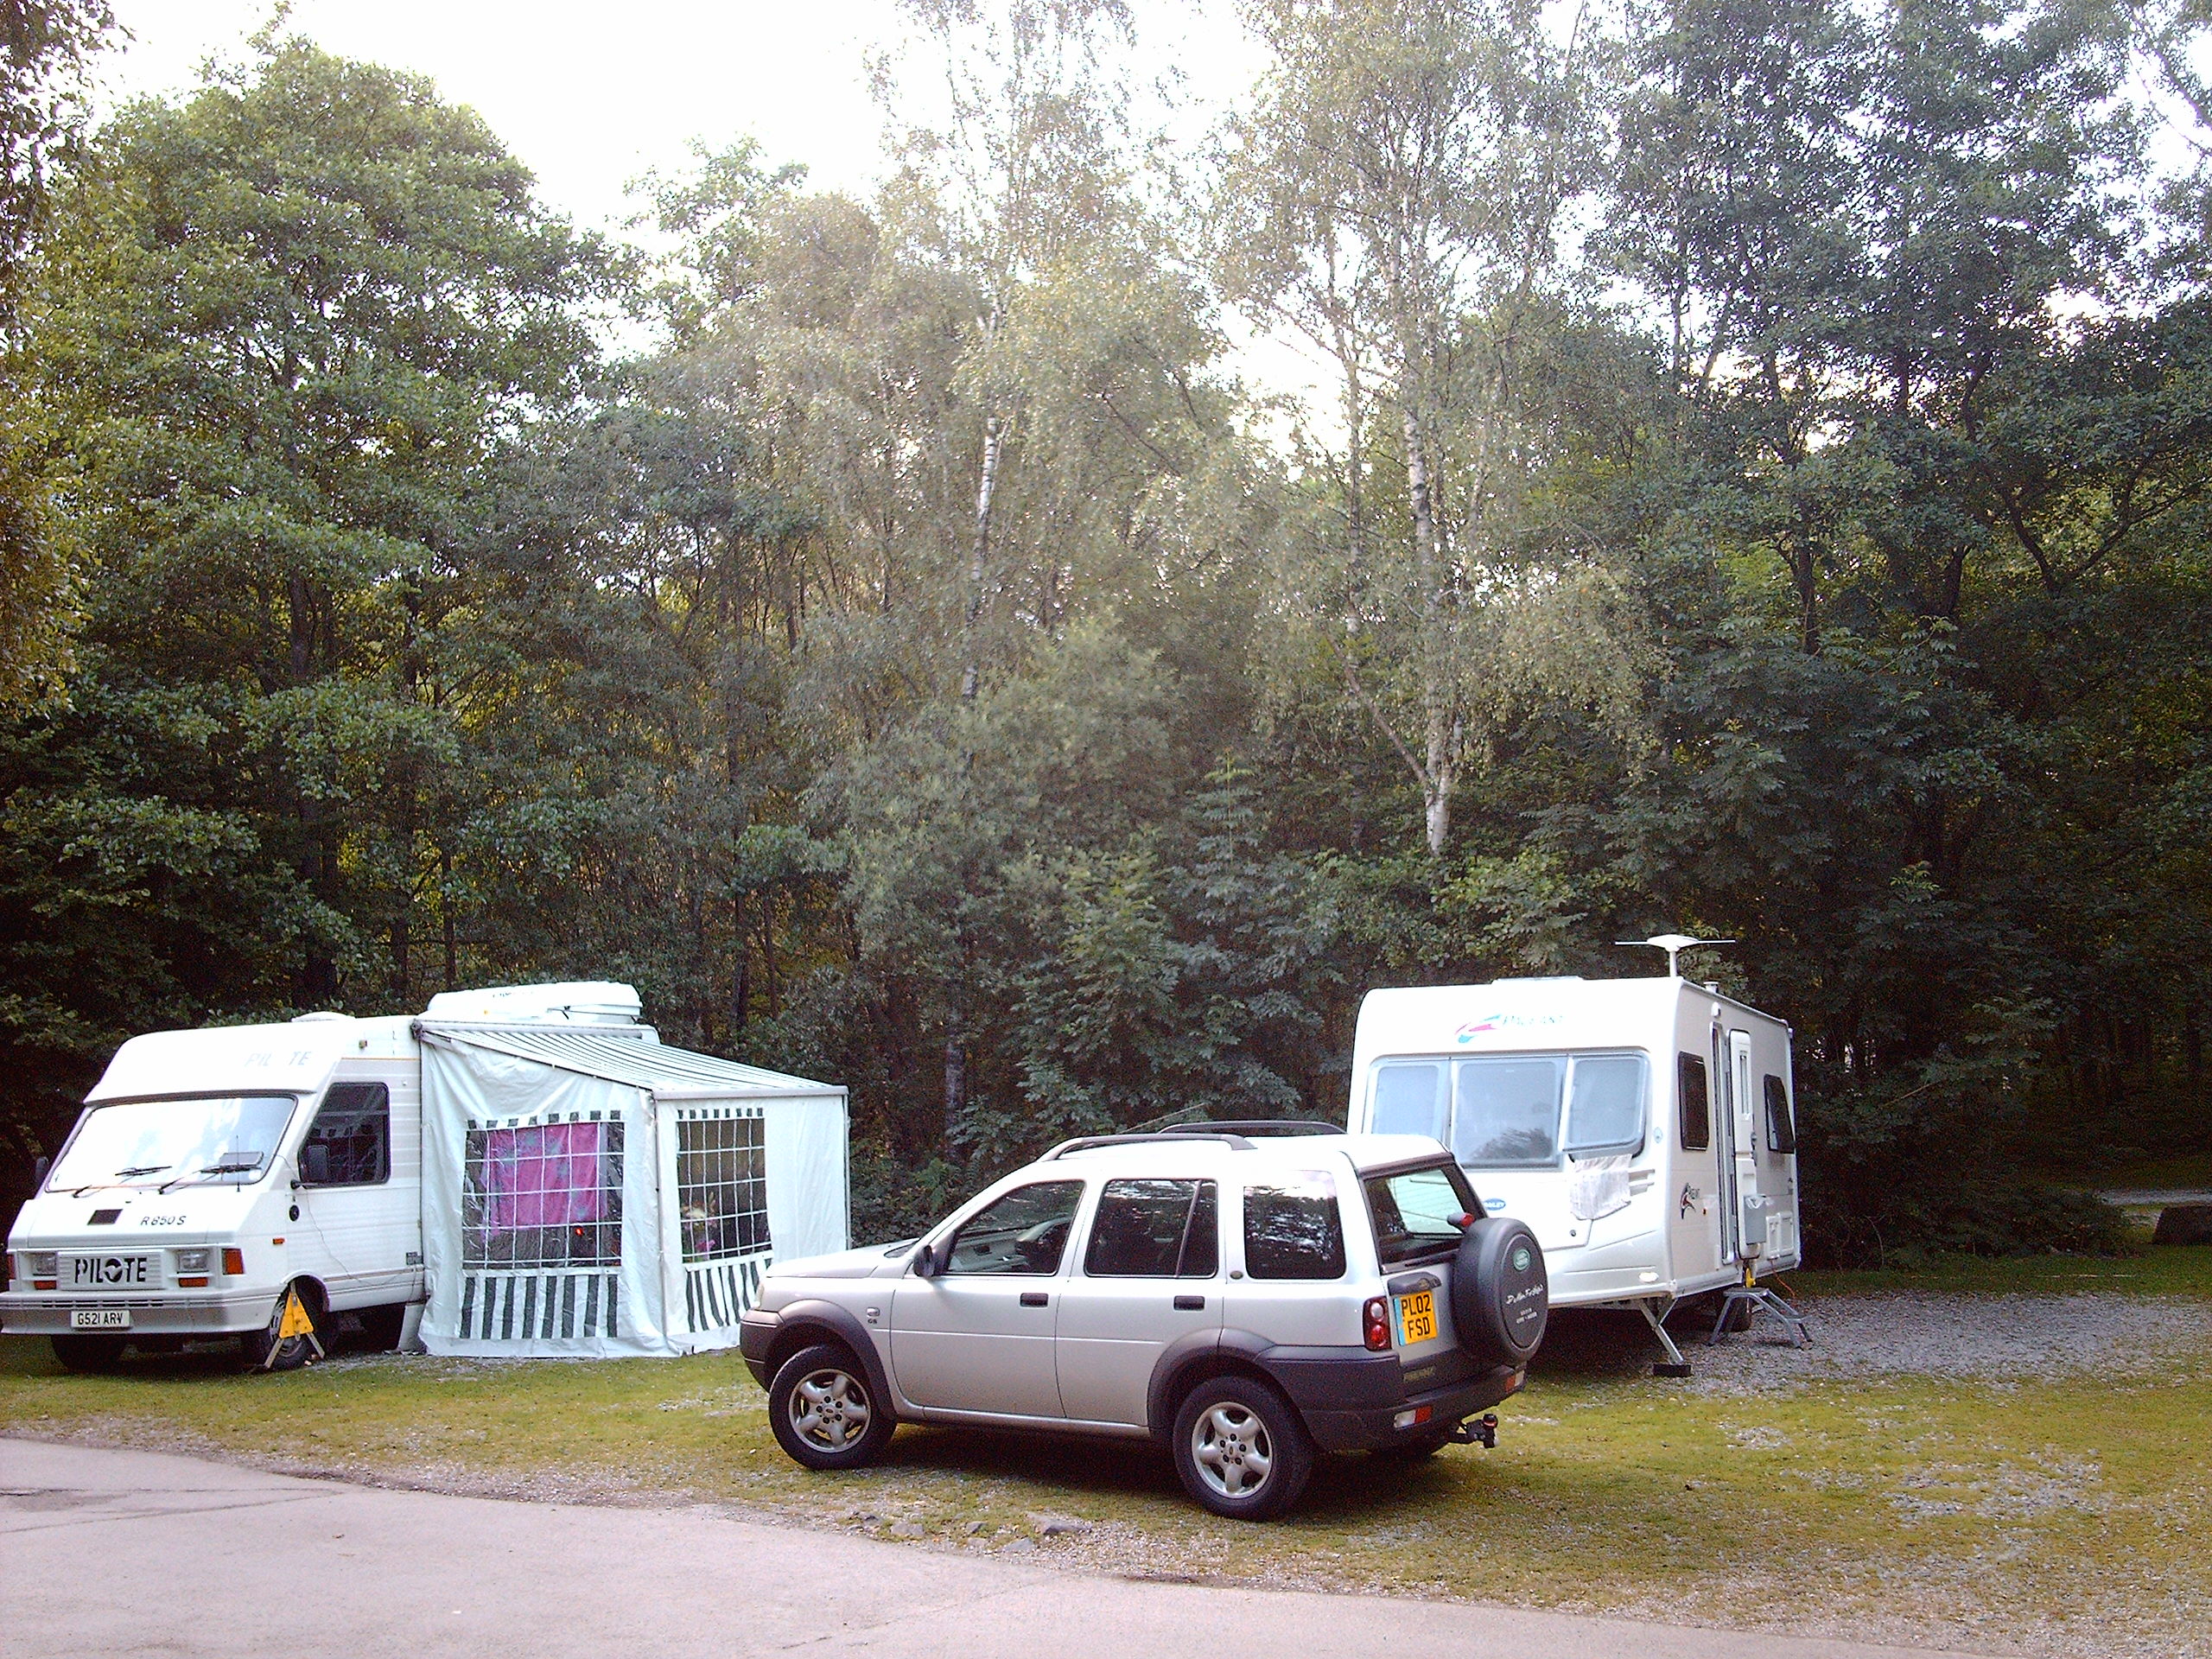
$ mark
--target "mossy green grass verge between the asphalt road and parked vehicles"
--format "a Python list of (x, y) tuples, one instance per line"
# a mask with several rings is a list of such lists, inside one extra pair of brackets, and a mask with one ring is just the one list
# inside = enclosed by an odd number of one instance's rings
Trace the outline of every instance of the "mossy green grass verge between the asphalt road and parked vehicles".
[[(1814, 1312), (1911, 1287), (2190, 1296), (2212, 1336), (2212, 1248), (1796, 1279)], [(774, 1447), (734, 1356), (361, 1358), (292, 1376), (210, 1358), (75, 1378), (42, 1343), (9, 1338), (0, 1422), (458, 1491), (714, 1500), (949, 1548), (998, 1548), (1062, 1515), (1093, 1531), (1042, 1548), (1113, 1571), (1966, 1648), (2212, 1652), (2212, 1352), (2119, 1383), (1907, 1376), (1692, 1396), (1644, 1378), (1632, 1343), (1588, 1325), (1562, 1336), (1502, 1409), (1498, 1451), (1449, 1449), (1418, 1471), (1327, 1460), (1274, 1526), (1199, 1513), (1164, 1455), (1121, 1444), (905, 1429), (885, 1467), (812, 1475)]]

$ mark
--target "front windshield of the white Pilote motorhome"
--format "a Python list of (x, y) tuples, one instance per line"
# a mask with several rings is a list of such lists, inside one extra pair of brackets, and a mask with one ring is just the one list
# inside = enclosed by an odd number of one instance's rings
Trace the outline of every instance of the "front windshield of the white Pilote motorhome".
[(296, 1104), (292, 1095), (204, 1095), (93, 1106), (46, 1190), (248, 1186), (268, 1175)]

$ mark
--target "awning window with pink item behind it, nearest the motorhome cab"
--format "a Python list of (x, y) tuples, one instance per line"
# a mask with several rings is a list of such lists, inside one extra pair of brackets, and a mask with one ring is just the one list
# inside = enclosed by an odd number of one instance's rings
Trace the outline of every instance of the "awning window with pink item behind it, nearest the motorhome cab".
[(460, 1265), (622, 1263), (622, 1119), (597, 1113), (469, 1124)]

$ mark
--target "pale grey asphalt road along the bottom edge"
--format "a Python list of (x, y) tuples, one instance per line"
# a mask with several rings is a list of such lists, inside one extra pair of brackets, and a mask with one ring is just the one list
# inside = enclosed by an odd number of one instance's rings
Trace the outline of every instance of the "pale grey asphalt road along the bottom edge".
[(0, 1655), (1891, 1659), (1555, 1613), (1066, 1573), (730, 1520), (0, 1438)]

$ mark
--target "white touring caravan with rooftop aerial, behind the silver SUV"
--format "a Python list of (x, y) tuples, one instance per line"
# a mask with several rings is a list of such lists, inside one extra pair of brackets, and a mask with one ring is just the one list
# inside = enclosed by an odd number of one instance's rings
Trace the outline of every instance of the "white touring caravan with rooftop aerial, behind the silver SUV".
[(1796, 1267), (1790, 1026), (1668, 973), (1369, 991), (1354, 1135), (1433, 1135), (1544, 1245), (1553, 1307), (1632, 1307)]

